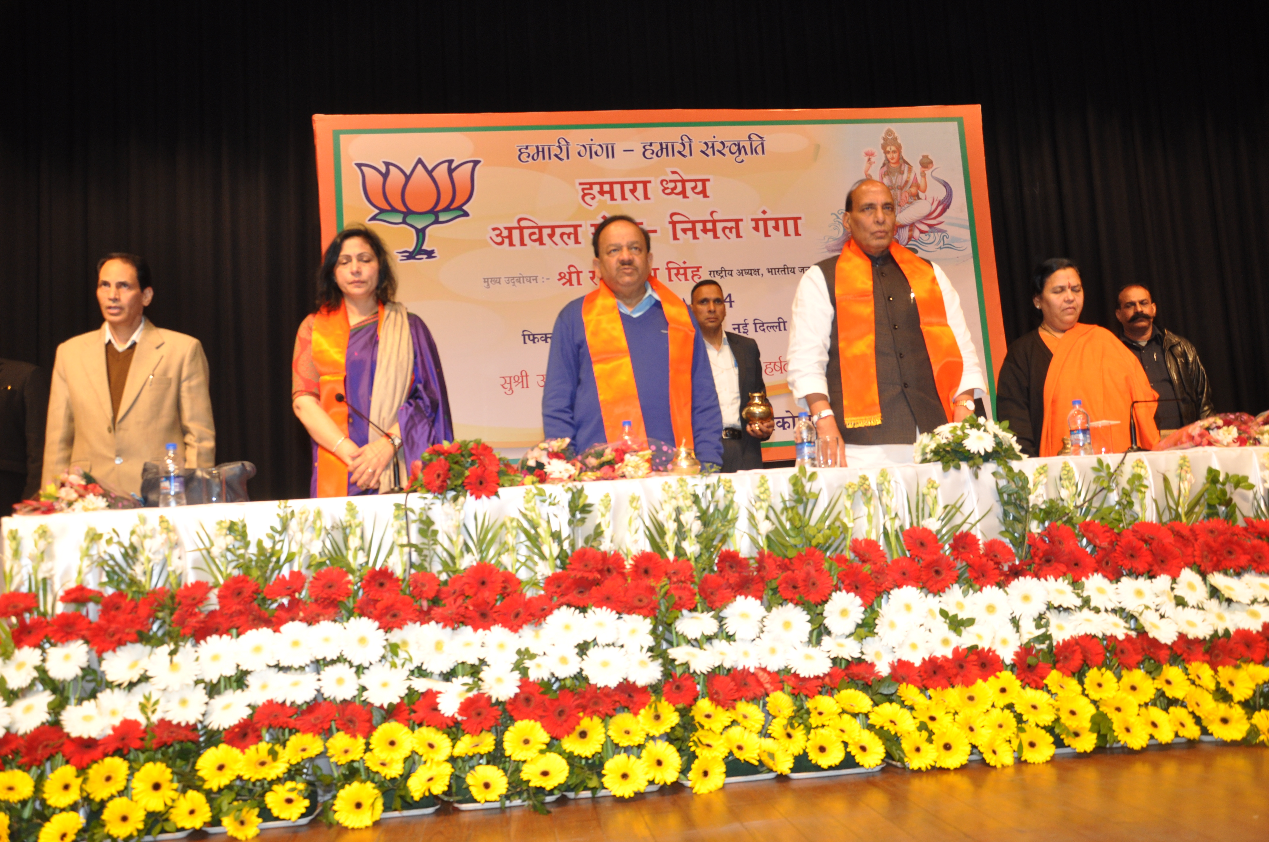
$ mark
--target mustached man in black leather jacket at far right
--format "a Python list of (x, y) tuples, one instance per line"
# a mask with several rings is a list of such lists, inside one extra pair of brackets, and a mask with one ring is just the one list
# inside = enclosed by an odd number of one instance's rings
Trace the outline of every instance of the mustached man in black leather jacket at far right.
[[(1119, 290), (1119, 339), (1141, 360), (1150, 385), (1159, 392), (1155, 424), (1160, 431), (1175, 430), (1213, 415), (1212, 389), (1198, 351), (1185, 337), (1155, 326), (1155, 301), (1141, 284)], [(1167, 402), (1166, 398), (1176, 398)]]

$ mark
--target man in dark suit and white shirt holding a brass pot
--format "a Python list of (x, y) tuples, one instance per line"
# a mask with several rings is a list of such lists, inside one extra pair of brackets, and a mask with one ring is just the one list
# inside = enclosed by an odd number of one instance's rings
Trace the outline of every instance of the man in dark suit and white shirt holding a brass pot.
[(763, 441), (772, 437), (775, 420), (746, 422), (740, 417), (750, 394), (766, 392), (758, 342), (722, 328), (727, 302), (722, 287), (713, 279), (707, 278), (692, 288), (692, 314), (697, 317), (706, 341), (718, 408), (722, 410), (722, 472), (761, 468)]

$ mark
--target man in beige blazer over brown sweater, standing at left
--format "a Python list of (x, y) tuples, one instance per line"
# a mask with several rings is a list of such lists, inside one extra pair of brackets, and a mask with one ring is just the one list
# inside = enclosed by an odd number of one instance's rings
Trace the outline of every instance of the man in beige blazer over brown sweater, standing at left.
[(57, 346), (43, 484), (79, 465), (115, 491), (140, 495), (142, 465), (161, 463), (169, 443), (188, 468), (216, 464), (203, 346), (146, 320), (152, 298), (142, 257), (117, 252), (98, 262), (105, 323)]

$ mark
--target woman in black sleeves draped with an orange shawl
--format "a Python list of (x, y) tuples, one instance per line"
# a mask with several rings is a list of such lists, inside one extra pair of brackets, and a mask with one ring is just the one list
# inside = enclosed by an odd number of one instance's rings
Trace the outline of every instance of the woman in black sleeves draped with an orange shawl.
[[(1010, 344), (996, 385), (996, 417), (1009, 422), (1029, 457), (1056, 457), (1068, 435), (1066, 416), (1082, 401), (1093, 421), (1109, 426), (1110, 449), (1128, 449), (1128, 411), (1133, 401), (1152, 401), (1141, 363), (1114, 334), (1081, 325), (1084, 285), (1079, 268), (1052, 257), (1036, 269), (1032, 303), (1041, 312), (1039, 328)], [(1147, 450), (1159, 441), (1155, 405), (1134, 410), (1137, 441)]]

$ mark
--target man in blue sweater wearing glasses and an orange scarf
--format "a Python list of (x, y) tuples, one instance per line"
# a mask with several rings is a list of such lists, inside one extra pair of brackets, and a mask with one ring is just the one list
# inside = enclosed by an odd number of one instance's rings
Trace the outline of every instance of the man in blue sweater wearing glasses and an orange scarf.
[(591, 238), (598, 289), (569, 302), (551, 335), (542, 429), (585, 450), (636, 439), (687, 443), (702, 465), (722, 465), (722, 415), (713, 372), (690, 308), (650, 279), (651, 237), (627, 216)]

